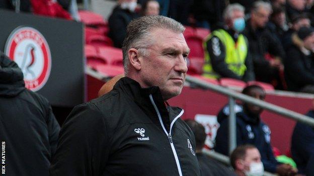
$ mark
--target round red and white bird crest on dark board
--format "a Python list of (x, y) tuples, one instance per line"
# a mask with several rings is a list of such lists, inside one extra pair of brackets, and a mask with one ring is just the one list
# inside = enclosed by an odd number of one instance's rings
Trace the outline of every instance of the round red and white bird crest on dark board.
[(25, 87), (38, 91), (47, 82), (51, 54), (44, 36), (34, 28), (18, 27), (9, 36), (5, 53), (22, 69)]

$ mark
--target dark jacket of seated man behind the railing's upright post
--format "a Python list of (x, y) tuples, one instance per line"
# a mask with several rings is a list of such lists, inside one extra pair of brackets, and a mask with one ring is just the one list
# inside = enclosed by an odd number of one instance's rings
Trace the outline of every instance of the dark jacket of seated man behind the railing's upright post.
[[(253, 118), (245, 113), (242, 106), (237, 105), (234, 109), (237, 116), (237, 145), (255, 145), (261, 153), (265, 170), (276, 171), (278, 164), (274, 157), (270, 144), (270, 129), (261, 121), (260, 117)], [(220, 127), (215, 138), (215, 151), (228, 155), (228, 115), (229, 106), (225, 106), (217, 116)]]

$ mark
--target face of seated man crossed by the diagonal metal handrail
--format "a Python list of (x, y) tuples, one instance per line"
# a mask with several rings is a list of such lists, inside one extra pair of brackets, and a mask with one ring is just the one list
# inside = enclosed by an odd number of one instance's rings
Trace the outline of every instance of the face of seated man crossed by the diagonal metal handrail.
[[(264, 100), (266, 93), (260, 88), (252, 88), (249, 90), (247, 95), (260, 99), (260, 100)], [(245, 104), (245, 108), (247, 109), (249, 113), (254, 114), (254, 115), (259, 115), (263, 111), (261, 107), (253, 105), (253, 104), (248, 104), (248, 103)]]

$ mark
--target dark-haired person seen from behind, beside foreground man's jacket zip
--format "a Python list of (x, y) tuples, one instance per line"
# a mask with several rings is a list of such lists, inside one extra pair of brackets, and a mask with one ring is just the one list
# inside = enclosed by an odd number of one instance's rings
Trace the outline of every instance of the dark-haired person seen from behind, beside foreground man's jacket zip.
[(191, 128), (195, 136), (196, 156), (198, 163), (200, 164), (201, 167), (201, 175), (235, 176), (234, 173), (232, 173), (232, 171), (229, 168), (202, 153), (202, 148), (205, 145), (206, 139), (204, 126), (194, 120), (186, 120), (185, 122)]

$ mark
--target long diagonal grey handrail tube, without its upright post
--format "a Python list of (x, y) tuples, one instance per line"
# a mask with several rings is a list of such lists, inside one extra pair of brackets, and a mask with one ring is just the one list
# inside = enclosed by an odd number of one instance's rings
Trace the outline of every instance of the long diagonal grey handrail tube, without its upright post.
[(283, 107), (280, 107), (280, 106), (277, 106), (277, 105), (274, 105), (271, 103), (267, 103), (265, 101), (262, 101), (262, 100), (259, 100), (256, 98), (252, 98), (250, 96), (244, 95), (242, 93), (238, 93), (236, 91), (230, 90), (230, 89), (222, 87), (222, 86), (217, 86), (217, 85), (213, 85), (213, 84), (201, 81), (201, 80), (194, 78), (192, 76), (189, 76), (189, 75), (186, 76), (186, 81), (193, 82), (194, 84), (197, 84), (203, 88), (207, 88), (207, 89), (210, 89), (212, 91), (224, 94), (226, 96), (242, 100), (246, 103), (260, 106), (260, 107), (267, 109), (269, 111), (272, 111), (274, 113), (286, 116), (290, 119), (300, 121), (300, 122), (306, 123), (306, 124), (314, 127), (314, 119), (312, 119), (306, 115), (291, 111), (289, 109), (286, 109), (286, 108), (283, 108)]

